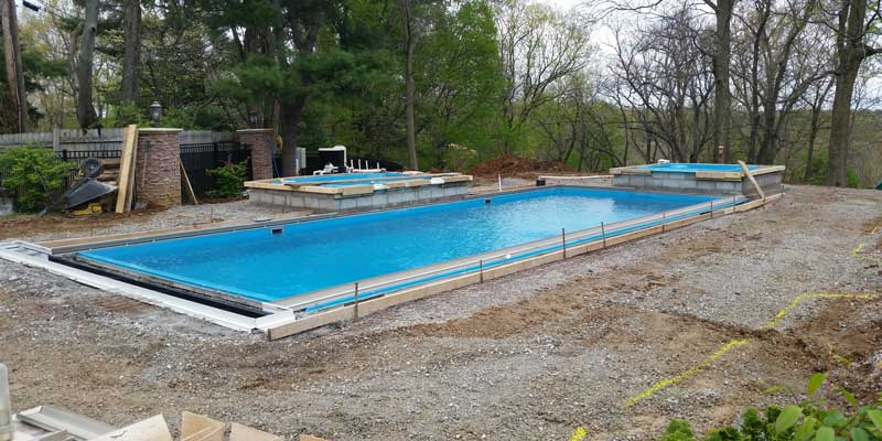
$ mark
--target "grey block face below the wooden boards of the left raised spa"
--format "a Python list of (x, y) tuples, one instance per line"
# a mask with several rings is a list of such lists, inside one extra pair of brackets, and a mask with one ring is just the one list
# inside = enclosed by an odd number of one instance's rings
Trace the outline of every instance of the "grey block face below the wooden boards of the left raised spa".
[(353, 212), (406, 206), (426, 201), (454, 200), (466, 193), (469, 193), (466, 183), (378, 190), (370, 194), (356, 196), (248, 189), (248, 200), (257, 204), (284, 205), (293, 208)]

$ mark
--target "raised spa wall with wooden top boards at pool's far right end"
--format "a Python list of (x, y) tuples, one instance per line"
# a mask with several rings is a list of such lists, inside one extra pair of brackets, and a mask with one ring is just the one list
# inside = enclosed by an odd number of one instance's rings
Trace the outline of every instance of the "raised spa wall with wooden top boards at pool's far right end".
[[(652, 171), (637, 166), (611, 169), (613, 185), (675, 193), (700, 194), (741, 194), (759, 197), (756, 189), (744, 172), (671, 172)], [(751, 170), (751, 174), (763, 192), (775, 194), (781, 192), (784, 176), (783, 165), (761, 165)]]

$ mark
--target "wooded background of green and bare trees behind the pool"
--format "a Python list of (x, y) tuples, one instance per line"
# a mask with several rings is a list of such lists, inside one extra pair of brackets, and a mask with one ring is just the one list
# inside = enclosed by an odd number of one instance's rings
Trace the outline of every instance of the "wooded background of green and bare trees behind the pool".
[(165, 127), (276, 129), (286, 174), (295, 147), (345, 144), (423, 170), (743, 159), (869, 186), (880, 1), (0, 0), (0, 132), (144, 125), (159, 101)]

